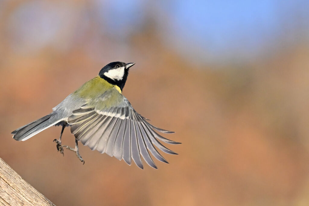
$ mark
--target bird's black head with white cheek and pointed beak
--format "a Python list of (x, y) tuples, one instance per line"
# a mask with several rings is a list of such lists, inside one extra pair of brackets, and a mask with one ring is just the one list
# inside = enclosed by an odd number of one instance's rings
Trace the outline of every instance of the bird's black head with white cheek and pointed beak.
[(135, 63), (126, 64), (120, 61), (111, 62), (100, 70), (99, 76), (109, 83), (119, 86), (122, 91), (127, 81), (129, 68), (134, 64)]

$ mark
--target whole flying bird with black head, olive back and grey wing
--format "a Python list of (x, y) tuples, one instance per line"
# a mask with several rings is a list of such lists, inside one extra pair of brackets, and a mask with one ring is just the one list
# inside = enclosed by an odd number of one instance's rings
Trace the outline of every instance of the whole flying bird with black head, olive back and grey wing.
[[(168, 163), (158, 149), (168, 154), (177, 153), (160, 141), (181, 143), (169, 140), (158, 132), (174, 132), (150, 124), (149, 119), (137, 113), (122, 95), (129, 69), (134, 64), (116, 61), (105, 65), (95, 78), (68, 95), (50, 114), (13, 131), (13, 138), (25, 141), (51, 126), (62, 126), (59, 139), (54, 139), (57, 150), (63, 155), (64, 149), (74, 151), (83, 164), (85, 161), (79, 154), (78, 141), (92, 150), (123, 159), (128, 165), (133, 159), (141, 169), (144, 168), (142, 158), (149, 166), (158, 169), (150, 153), (159, 161)], [(70, 127), (75, 137), (75, 148), (61, 145), (66, 127)]]

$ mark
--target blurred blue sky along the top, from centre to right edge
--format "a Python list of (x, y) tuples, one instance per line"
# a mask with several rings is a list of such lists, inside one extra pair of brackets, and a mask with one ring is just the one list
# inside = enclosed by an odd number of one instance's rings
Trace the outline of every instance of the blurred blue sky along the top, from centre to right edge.
[[(103, 3), (104, 19), (110, 25), (138, 27), (152, 7), (166, 42), (194, 55), (222, 58), (237, 53), (250, 58), (276, 44), (286, 31), (300, 25), (308, 35), (309, 1), (112, 1)], [(129, 18), (122, 15), (125, 13)], [(168, 23), (164, 18), (168, 17)], [(162, 21), (161, 21), (162, 20)], [(292, 33), (293, 35), (293, 33)], [(202, 51), (202, 52), (201, 52)], [(185, 51), (184, 51), (185, 52)], [(204, 53), (205, 52), (205, 53)], [(201, 57), (201, 58), (202, 58)]]

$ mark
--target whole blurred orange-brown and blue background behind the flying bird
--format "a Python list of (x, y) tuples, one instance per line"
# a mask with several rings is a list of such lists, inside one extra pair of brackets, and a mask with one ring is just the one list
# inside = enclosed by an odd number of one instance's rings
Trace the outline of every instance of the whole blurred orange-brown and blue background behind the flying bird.
[[(309, 205), (308, 1), (0, 0), (0, 157), (56, 205)], [(112, 61), (123, 94), (176, 131), (159, 170), (80, 145), (52, 111)], [(66, 129), (63, 144), (74, 146)]]

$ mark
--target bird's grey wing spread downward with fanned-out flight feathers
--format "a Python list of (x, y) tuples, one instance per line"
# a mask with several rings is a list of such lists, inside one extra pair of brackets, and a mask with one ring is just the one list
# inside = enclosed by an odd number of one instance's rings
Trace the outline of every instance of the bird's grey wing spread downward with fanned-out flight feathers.
[[(124, 159), (131, 165), (131, 159), (143, 169), (142, 158), (157, 169), (150, 153), (159, 161), (168, 163), (158, 152), (156, 147), (165, 153), (176, 154), (158, 140), (169, 144), (180, 144), (159, 135), (155, 130), (163, 133), (174, 133), (157, 128), (146, 121), (123, 97), (117, 107), (98, 109), (90, 105), (83, 105), (74, 110), (68, 118), (71, 132), (92, 150), (107, 153), (117, 159)], [(141, 158), (142, 156), (142, 158)]]

